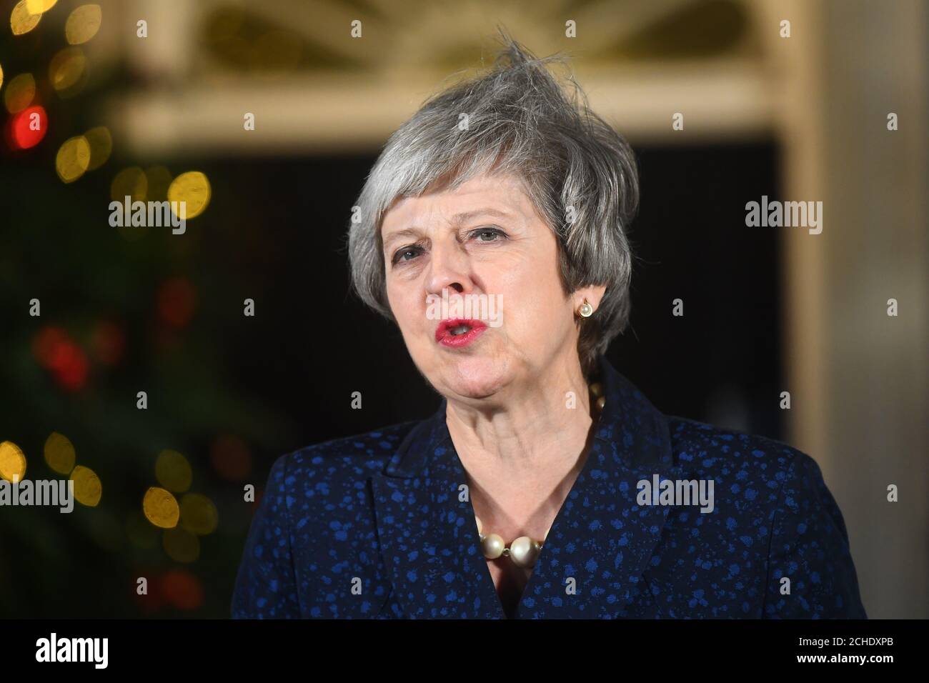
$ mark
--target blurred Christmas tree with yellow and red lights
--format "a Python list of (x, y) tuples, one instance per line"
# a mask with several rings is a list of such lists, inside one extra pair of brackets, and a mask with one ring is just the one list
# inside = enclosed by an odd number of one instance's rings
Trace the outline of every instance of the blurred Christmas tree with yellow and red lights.
[[(294, 432), (233, 380), (225, 348), (263, 281), (211, 239), (240, 219), (209, 196), (223, 168), (132, 158), (100, 120), (144, 84), (89, 56), (100, 7), (66, 5), (21, 0), (0, 28), (0, 473), (70, 477), (78, 503), (0, 507), (0, 616), (223, 617), (242, 489), (264, 484), (253, 458)], [(184, 234), (111, 227), (113, 199), (204, 191)]]

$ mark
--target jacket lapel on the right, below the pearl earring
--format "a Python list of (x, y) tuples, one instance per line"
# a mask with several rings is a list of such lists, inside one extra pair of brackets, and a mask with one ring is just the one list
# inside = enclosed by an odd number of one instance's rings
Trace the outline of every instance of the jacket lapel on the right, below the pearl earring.
[(616, 619), (646, 589), (667, 506), (640, 506), (638, 481), (677, 479), (667, 419), (606, 361), (607, 402), (581, 474), (520, 600), (520, 618)]

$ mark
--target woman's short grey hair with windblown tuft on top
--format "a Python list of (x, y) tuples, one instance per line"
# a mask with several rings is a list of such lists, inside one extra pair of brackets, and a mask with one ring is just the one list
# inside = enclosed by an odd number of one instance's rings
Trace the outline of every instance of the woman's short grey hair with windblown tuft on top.
[[(352, 284), (366, 304), (395, 321), (381, 238), (386, 209), (433, 186), (454, 189), (482, 173), (513, 173), (556, 233), (565, 295), (588, 285), (607, 288), (595, 314), (579, 320), (578, 354), (592, 374), (597, 357), (629, 322), (635, 155), (590, 111), (573, 76), (569, 98), (545, 68), (562, 58), (537, 59), (503, 35), (504, 48), (489, 72), (427, 99), (387, 140), (353, 207)], [(461, 114), (467, 115), (464, 130)]]

